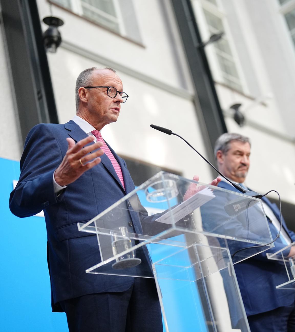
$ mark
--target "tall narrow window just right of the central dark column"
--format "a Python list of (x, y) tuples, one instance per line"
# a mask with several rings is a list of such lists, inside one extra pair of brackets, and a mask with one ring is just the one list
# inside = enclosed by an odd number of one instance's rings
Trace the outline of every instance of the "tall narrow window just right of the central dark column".
[[(223, 19), (218, 13), (218, 8), (216, 7), (214, 8), (214, 10), (210, 10), (210, 7), (212, 7), (211, 3), (216, 5), (216, 1), (206, 1), (210, 2), (210, 6), (203, 6), (203, 13), (210, 35), (225, 32)], [(222, 39), (214, 42), (214, 50), (216, 53), (216, 59), (219, 64), (223, 83), (236, 90), (242, 91), (243, 89), (236, 67), (235, 59), (233, 57), (231, 46), (226, 37), (226, 34), (223, 35)]]

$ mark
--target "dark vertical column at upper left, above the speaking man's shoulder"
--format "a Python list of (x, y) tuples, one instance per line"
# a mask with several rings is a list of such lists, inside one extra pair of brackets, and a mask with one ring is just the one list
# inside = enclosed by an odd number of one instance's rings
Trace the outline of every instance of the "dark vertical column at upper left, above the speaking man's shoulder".
[(58, 123), (36, 0), (0, 0), (3, 37), (23, 141), (38, 123)]

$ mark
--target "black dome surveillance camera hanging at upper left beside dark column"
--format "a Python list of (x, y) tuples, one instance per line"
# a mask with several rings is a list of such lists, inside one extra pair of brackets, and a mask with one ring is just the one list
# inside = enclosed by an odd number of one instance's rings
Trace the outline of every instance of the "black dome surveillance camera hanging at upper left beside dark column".
[(63, 25), (63, 21), (57, 17), (48, 16), (43, 19), (43, 22), (49, 26), (43, 33), (44, 47), (49, 52), (55, 53), (61, 43), (60, 32), (57, 28)]

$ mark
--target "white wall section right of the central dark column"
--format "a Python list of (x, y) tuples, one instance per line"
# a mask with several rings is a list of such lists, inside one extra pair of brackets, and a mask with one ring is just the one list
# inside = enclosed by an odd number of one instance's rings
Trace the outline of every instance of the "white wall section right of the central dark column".
[[(206, 0), (192, 0), (202, 37)], [(295, 48), (277, 0), (217, 0), (240, 71), (243, 93), (219, 84), (213, 45), (206, 47), (216, 89), (229, 132), (252, 140), (249, 187), (260, 193), (271, 189), (295, 204)], [(260, 101), (260, 102), (259, 102)], [(262, 103), (261, 103), (262, 102)], [(233, 120), (230, 106), (242, 104), (244, 127)], [(269, 194), (278, 198), (275, 193)]]

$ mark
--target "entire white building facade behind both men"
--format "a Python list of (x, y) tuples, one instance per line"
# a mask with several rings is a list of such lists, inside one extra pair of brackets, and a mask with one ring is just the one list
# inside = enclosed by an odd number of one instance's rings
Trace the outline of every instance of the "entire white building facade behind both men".
[[(228, 131), (248, 135), (253, 142), (248, 185), (263, 193), (276, 189), (283, 200), (294, 203), (295, 2), (191, 3), (203, 40), (218, 31), (225, 33), (221, 41), (205, 49)], [(59, 28), (61, 46), (56, 53), (47, 53), (59, 122), (67, 122), (75, 114), (77, 75), (88, 67), (111, 66), (130, 97), (118, 122), (104, 129), (106, 140), (121, 155), (188, 178), (196, 173), (202, 181), (209, 181), (209, 166), (189, 147), (149, 127), (171, 128), (205, 156), (211, 153), (192, 102), (190, 69), (171, 2), (38, 0), (37, 5), (40, 18), (52, 13), (65, 22)], [(46, 28), (42, 23), (43, 31)], [(3, 40), (0, 52), (7, 59)], [(1, 135), (12, 134), (15, 139), (1, 144), (0, 155), (17, 160), (22, 143), (17, 137), (9, 71), (9, 61), (3, 61), (1, 85), (6, 98)], [(246, 118), (242, 128), (233, 121), (230, 109), (236, 103), (242, 104), (240, 110)]]

